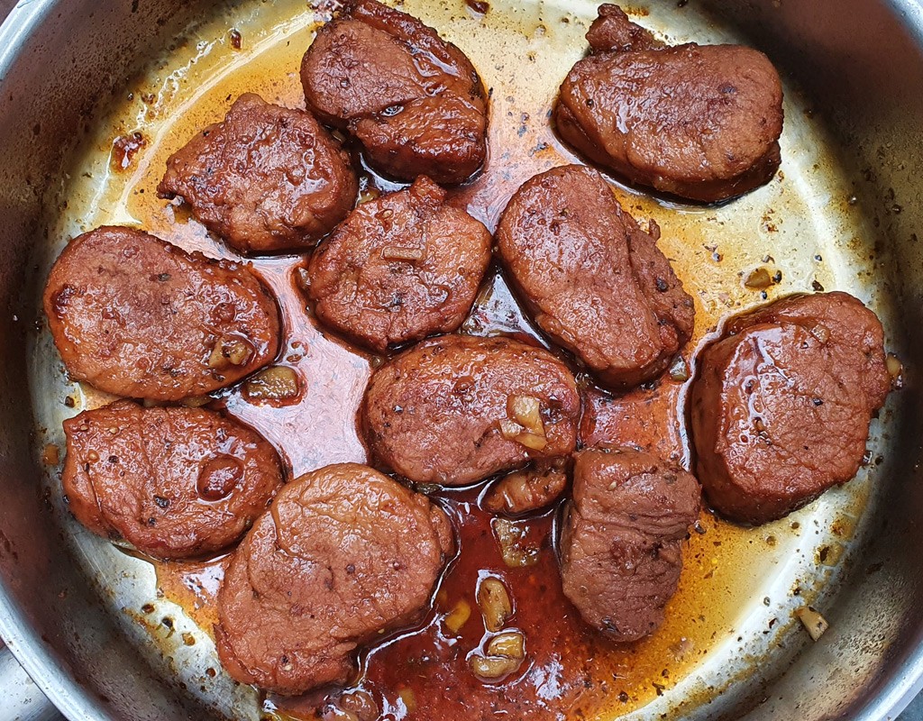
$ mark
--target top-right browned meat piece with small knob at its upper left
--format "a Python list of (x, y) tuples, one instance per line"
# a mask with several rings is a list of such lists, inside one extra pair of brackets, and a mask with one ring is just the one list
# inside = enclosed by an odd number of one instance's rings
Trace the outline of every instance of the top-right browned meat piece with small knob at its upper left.
[(557, 131), (631, 183), (717, 201), (769, 182), (779, 167), (782, 84), (741, 45), (665, 47), (617, 6), (599, 8), (593, 55), (561, 85)]

